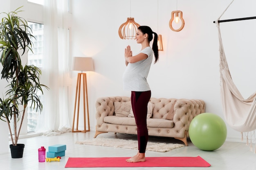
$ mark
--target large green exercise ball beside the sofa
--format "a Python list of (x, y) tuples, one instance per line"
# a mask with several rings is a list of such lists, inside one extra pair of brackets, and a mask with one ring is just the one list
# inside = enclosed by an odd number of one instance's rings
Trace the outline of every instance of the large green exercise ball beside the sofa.
[(216, 150), (227, 138), (227, 126), (220, 116), (201, 113), (191, 121), (189, 137), (191, 142), (201, 150)]

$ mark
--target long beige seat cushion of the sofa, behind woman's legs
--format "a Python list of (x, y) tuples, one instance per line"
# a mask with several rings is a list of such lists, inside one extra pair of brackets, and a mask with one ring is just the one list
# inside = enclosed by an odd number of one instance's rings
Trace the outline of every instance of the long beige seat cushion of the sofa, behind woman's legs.
[[(104, 117), (105, 123), (117, 124), (117, 125), (131, 125), (136, 126), (135, 118), (121, 117), (121, 116), (106, 116)], [(172, 120), (166, 119), (147, 119), (147, 127), (155, 128), (173, 128), (174, 124)]]

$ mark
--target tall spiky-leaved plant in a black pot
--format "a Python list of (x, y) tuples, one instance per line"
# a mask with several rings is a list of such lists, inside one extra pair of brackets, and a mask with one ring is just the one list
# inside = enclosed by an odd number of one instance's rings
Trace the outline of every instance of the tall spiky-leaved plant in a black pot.
[[(10, 13), (1, 13), (6, 17), (0, 22), (1, 79), (7, 80), (9, 84), (6, 93), (0, 98), (0, 119), (7, 122), (9, 128), (12, 158), (20, 158), (23, 155), (25, 144), (18, 144), (18, 139), (27, 106), (41, 113), (43, 105), (37, 94), (38, 91), (43, 93), (43, 87), (48, 89), (47, 86), (40, 84), (39, 68), (34, 65), (22, 65), (22, 55), (31, 50), (33, 43), (30, 39), (34, 36), (27, 21), (17, 16), (20, 8)], [(17, 154), (13, 153), (13, 150), (18, 151), (16, 148), (21, 148)]]

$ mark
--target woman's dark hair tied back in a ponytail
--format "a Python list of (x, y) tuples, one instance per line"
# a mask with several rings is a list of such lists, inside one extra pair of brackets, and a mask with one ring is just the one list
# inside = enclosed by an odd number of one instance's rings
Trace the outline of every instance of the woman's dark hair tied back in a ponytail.
[(138, 30), (140, 30), (142, 33), (144, 34), (148, 34), (148, 41), (150, 42), (153, 39), (153, 34), (154, 34), (154, 41), (153, 41), (153, 45), (152, 45), (152, 50), (154, 52), (155, 55), (155, 62), (154, 64), (158, 61), (158, 45), (157, 45), (157, 33), (153, 32), (152, 29), (149, 26), (139, 26)]

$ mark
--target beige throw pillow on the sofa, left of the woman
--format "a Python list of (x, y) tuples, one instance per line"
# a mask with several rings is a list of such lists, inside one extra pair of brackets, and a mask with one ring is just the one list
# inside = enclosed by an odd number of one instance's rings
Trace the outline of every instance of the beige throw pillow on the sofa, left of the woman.
[(130, 114), (131, 102), (114, 102), (115, 115), (127, 117)]

